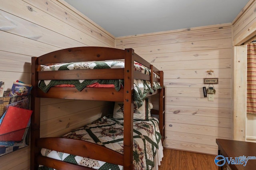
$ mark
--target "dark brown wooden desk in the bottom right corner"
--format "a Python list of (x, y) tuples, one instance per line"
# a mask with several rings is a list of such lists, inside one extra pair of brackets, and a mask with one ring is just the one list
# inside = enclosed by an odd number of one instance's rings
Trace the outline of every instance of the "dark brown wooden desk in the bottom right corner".
[[(219, 147), (219, 155), (228, 157), (229, 160), (230, 157), (235, 159), (235, 157), (240, 156), (256, 156), (256, 143), (254, 142), (216, 139), (216, 143)], [(228, 164), (227, 161), (226, 164), (231, 170), (256, 170), (256, 160), (248, 160), (246, 166), (241, 164)], [(219, 169), (222, 169), (222, 166), (219, 166)]]

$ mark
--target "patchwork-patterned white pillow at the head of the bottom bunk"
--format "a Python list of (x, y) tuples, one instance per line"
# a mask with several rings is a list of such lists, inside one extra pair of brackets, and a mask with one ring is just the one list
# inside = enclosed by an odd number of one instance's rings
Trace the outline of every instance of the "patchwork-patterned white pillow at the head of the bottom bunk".
[[(143, 105), (138, 108), (137, 105), (134, 103), (134, 113), (133, 119), (134, 120), (148, 120), (150, 115), (150, 110), (153, 108), (152, 103), (146, 98), (143, 101)], [(115, 102), (114, 111), (113, 111), (113, 118), (114, 119), (124, 119), (124, 103), (123, 102)]]

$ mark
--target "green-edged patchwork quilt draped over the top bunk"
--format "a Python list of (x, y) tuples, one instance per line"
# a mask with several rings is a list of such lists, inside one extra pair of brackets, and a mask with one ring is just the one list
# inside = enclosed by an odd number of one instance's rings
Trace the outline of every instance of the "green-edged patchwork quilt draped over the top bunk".
[[(124, 61), (94, 61), (94, 62), (79, 62), (79, 63), (61, 63), (48, 65), (41, 69), (41, 71), (56, 71), (56, 70), (74, 70), (74, 69), (107, 69), (107, 68), (124, 68)], [(134, 62), (134, 70), (147, 75), (151, 74), (151, 70), (139, 63)], [(154, 77), (158, 77), (154, 73)], [(74, 85), (78, 91), (82, 91), (84, 87), (99, 84), (112, 84), (116, 91), (119, 91), (124, 86), (124, 80), (44, 80), (39, 81), (38, 87), (45, 93), (50, 87), (56, 85)], [(150, 81), (134, 79), (134, 101), (138, 107), (142, 106), (146, 94), (153, 92), (156, 89), (161, 89), (160, 83), (154, 82), (153, 89), (151, 88)]]

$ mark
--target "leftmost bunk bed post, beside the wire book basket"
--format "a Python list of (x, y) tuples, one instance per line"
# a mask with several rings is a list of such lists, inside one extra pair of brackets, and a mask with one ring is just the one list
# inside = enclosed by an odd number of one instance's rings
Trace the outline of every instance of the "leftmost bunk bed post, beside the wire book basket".
[(36, 141), (40, 138), (40, 98), (36, 97), (36, 89), (38, 88), (37, 71), (40, 66), (37, 64), (37, 57), (32, 57), (31, 61), (31, 144), (30, 144), (30, 169), (38, 169), (37, 160), (39, 155), (39, 148), (36, 146)]

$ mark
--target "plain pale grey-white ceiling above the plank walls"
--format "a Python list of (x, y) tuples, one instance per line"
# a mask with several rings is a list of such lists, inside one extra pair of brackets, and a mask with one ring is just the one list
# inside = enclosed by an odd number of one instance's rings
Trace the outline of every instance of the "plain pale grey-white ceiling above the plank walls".
[(231, 23), (249, 0), (64, 0), (115, 37)]

